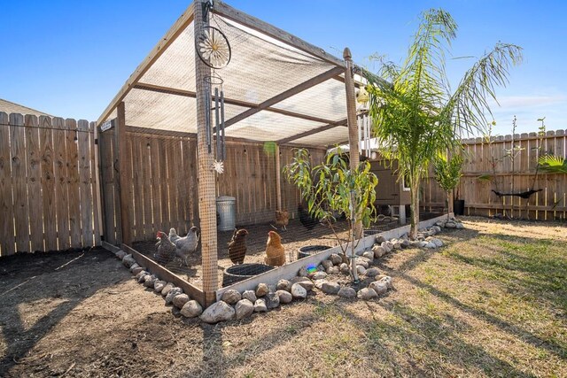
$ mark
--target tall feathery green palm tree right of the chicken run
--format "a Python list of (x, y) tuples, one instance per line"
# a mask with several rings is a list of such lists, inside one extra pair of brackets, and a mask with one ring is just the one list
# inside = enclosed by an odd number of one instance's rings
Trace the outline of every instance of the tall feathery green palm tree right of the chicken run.
[(455, 150), (461, 135), (470, 135), (488, 123), (487, 115), (492, 116), (488, 99), (495, 100), (495, 87), (506, 85), (509, 67), (522, 60), (520, 47), (499, 42), (452, 91), (445, 72), (445, 52), (456, 30), (448, 12), (423, 12), (403, 65), (381, 60), (377, 75), (364, 72), (369, 81), (373, 133), (384, 146), (384, 158), (398, 160), (399, 176), (409, 181), (413, 239), (419, 224), (423, 174), (439, 151)]

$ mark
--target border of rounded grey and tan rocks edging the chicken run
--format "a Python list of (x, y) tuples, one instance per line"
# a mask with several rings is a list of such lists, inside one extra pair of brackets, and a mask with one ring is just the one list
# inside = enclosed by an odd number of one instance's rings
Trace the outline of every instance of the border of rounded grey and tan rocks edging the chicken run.
[(433, 236), (439, 234), (442, 228), (462, 229), (464, 226), (454, 217), (439, 220), (429, 228), (419, 229), (415, 241), (410, 241), (408, 234), (389, 240), (385, 240), (384, 236), (378, 234), (375, 243), (369, 249), (357, 252), (358, 274), (366, 279), (372, 278), (367, 287), (358, 291), (350, 286), (342, 286), (338, 282), (326, 280), (330, 274), (350, 274), (349, 266), (337, 253), (333, 253), (318, 266), (302, 266), (297, 276), (291, 280), (280, 280), (276, 285), (259, 283), (255, 290), (245, 290), (242, 293), (236, 289), (228, 289), (222, 293), (221, 300), (206, 309), (203, 309), (197, 300), (191, 299), (187, 293), (183, 293), (183, 289), (176, 287), (174, 283), (161, 281), (158, 276), (148, 272), (144, 266), (139, 266), (131, 254), (122, 250), (114, 254), (130, 270), (137, 282), (164, 297), (166, 305), (172, 305), (172, 312), (175, 316), (189, 319), (199, 317), (206, 323), (214, 324), (233, 319), (243, 320), (254, 312), (268, 312), (281, 305), (303, 300), (307, 298), (308, 292), (315, 289), (321, 290), (326, 295), (337, 295), (346, 299), (358, 298), (367, 301), (379, 299), (393, 289), (393, 280), (391, 276), (380, 273), (375, 266), (377, 259), (400, 249), (438, 249), (444, 243)]

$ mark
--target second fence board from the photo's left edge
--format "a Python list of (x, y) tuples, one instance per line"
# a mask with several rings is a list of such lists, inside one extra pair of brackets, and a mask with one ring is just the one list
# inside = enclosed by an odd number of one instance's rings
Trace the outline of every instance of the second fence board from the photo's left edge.
[(16, 251), (29, 251), (29, 208), (26, 182), (26, 130), (24, 116), (10, 114), (10, 147), (12, 154), (12, 190)]

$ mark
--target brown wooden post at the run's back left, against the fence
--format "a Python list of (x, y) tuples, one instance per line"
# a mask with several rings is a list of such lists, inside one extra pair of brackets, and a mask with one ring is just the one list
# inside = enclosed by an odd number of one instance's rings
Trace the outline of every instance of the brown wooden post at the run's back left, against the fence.
[(128, 151), (126, 147), (126, 107), (124, 102), (120, 102), (117, 108), (118, 118), (116, 119), (116, 159), (118, 160), (118, 189), (120, 192), (120, 229), (122, 230), (122, 240), (124, 244), (132, 245), (132, 227), (130, 222), (131, 197), (128, 190)]

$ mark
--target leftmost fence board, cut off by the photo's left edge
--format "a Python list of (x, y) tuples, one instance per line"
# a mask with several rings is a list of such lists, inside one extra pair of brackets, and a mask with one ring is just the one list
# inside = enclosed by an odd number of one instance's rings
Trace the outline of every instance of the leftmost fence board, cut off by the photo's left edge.
[(0, 256), (16, 251), (12, 205), (12, 163), (8, 114), (0, 112)]

